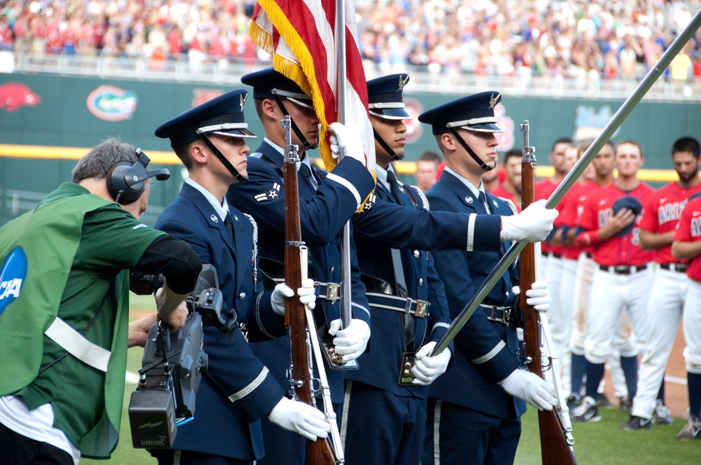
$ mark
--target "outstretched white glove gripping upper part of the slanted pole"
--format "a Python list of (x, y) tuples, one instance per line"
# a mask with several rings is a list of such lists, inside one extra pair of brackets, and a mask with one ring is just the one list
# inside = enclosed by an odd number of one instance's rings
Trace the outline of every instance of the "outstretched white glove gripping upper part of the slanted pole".
[(546, 209), (545, 199), (533, 202), (517, 215), (501, 217), (502, 242), (519, 241), (540, 242), (552, 230), (552, 222), (559, 212), (556, 209)]

